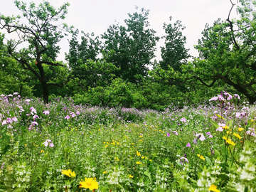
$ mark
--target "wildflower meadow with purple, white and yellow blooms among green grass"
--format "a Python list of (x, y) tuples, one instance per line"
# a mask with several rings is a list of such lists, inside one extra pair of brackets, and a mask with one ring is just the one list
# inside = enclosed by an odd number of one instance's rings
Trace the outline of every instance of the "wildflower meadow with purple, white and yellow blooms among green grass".
[(0, 95), (0, 191), (255, 191), (255, 105), (164, 112)]

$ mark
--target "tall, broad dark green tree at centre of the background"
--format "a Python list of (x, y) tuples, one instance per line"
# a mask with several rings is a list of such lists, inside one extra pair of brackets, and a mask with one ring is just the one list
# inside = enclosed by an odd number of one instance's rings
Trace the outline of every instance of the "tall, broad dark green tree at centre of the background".
[(137, 82), (135, 75), (147, 75), (151, 59), (155, 57), (156, 31), (149, 29), (147, 21), (149, 11), (142, 9), (142, 14), (128, 14), (124, 22), (127, 26), (113, 25), (102, 35), (105, 40), (105, 51), (114, 50), (107, 62), (120, 68), (117, 78)]

